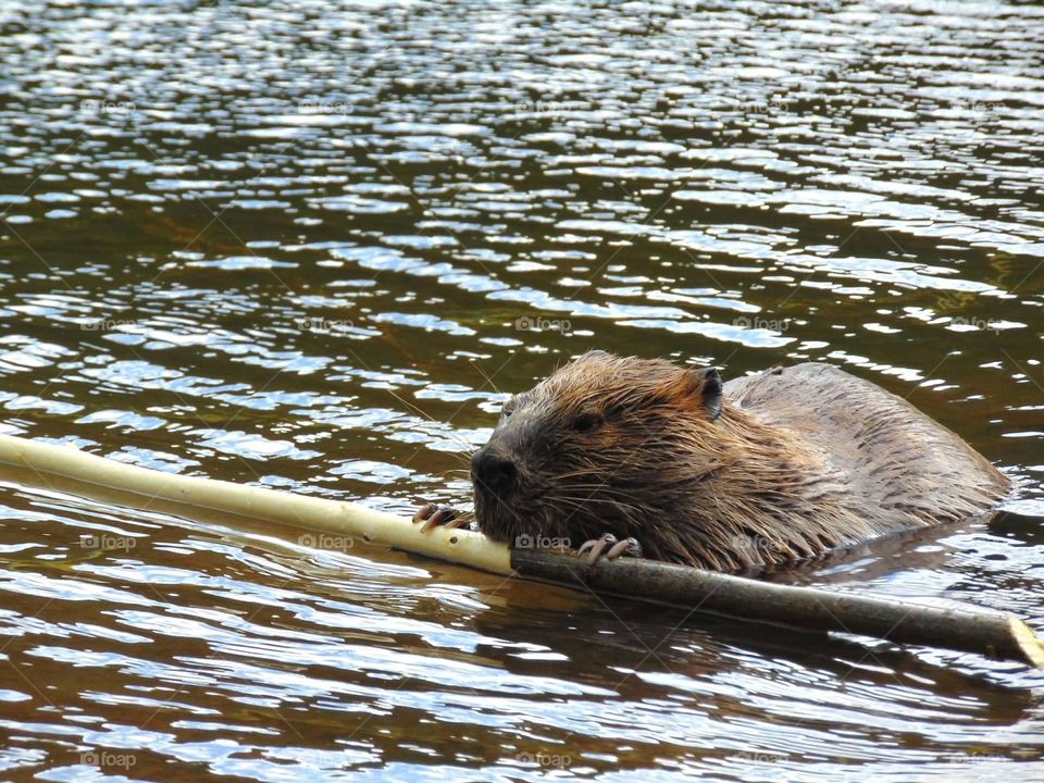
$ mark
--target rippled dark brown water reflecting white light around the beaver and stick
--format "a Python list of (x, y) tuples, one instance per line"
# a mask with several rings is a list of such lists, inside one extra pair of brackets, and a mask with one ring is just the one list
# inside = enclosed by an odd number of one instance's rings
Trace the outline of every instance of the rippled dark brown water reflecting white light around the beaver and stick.
[[(790, 576), (1044, 632), (1044, 10), (0, 5), (3, 431), (408, 513), (591, 347), (805, 359), (1020, 483)], [(1009, 663), (0, 476), (4, 779), (1044, 780)]]

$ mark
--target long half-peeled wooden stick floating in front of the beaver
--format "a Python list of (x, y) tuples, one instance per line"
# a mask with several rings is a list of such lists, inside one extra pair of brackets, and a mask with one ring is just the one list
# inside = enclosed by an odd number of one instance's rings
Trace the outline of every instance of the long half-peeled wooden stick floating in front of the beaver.
[(0, 463), (29, 471), (26, 475), (45, 486), (51, 485), (49, 476), (71, 480), (76, 492), (88, 497), (108, 500), (116, 492), (140, 509), (157, 500), (172, 502), (189, 512), (195, 508), (347, 536), (494, 573), (581, 585), (596, 593), (757, 622), (978, 652), (1044, 668), (1044, 645), (1026, 623), (1002, 612), (791, 587), (650, 560), (622, 558), (592, 566), (571, 555), (510, 549), (472, 531), (435, 527), (422, 532), (412, 520), (356, 504), (163, 473), (71, 446), (10, 435), (0, 435)]

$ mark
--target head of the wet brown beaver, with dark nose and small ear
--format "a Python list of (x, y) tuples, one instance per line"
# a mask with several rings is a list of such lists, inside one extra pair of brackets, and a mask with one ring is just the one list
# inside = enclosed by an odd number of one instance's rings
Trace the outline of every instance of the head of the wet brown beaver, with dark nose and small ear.
[(694, 489), (720, 465), (721, 412), (713, 368), (585, 353), (505, 403), (471, 461), (478, 527), (573, 547), (611, 532), (676, 559), (643, 532), (700, 502)]

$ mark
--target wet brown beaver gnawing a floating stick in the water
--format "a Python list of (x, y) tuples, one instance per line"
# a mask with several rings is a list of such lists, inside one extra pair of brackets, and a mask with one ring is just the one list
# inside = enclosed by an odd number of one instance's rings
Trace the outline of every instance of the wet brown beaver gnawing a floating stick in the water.
[[(585, 542), (719, 571), (794, 563), (990, 511), (1009, 480), (906, 400), (824, 363), (714, 368), (591, 351), (509, 399), (471, 460), (500, 542)], [(434, 506), (427, 524), (467, 521)]]

